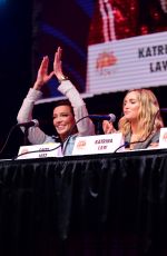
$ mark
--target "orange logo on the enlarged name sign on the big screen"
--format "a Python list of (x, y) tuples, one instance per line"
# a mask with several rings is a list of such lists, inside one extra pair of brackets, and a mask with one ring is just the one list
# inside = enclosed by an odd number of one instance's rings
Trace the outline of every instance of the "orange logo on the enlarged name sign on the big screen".
[(100, 75), (110, 75), (112, 67), (117, 63), (117, 58), (114, 52), (104, 51), (98, 55), (96, 60), (96, 69)]

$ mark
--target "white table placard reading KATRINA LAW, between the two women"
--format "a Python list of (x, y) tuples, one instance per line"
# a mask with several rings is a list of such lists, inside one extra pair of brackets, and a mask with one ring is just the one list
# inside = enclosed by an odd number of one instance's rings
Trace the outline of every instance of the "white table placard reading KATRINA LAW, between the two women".
[[(121, 147), (122, 146), (122, 147)], [(120, 147), (120, 149), (118, 149)], [(122, 134), (77, 137), (72, 155), (94, 155), (124, 151)]]

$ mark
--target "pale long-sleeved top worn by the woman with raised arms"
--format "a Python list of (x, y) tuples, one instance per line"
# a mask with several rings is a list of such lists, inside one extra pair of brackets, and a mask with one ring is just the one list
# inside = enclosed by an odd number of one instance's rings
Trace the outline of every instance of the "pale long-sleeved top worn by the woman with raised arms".
[[(88, 111), (86, 108), (86, 104), (80, 97), (76, 87), (69, 81), (65, 80), (58, 87), (58, 90), (65, 95), (75, 112), (75, 120), (81, 119), (85, 116), (88, 116)], [(18, 112), (17, 120), (18, 122), (27, 122), (32, 120), (32, 110), (35, 102), (42, 97), (42, 92), (40, 90), (36, 90), (30, 88), (27, 97), (24, 98), (22, 106)], [(85, 118), (77, 124), (78, 134), (70, 136), (69, 139), (63, 144), (63, 155), (71, 155), (75, 140), (77, 136), (90, 136), (95, 135), (95, 126), (89, 118)], [(21, 130), (24, 131), (24, 128), (21, 127)], [(55, 142), (55, 139), (51, 136), (46, 135), (39, 127), (30, 127), (28, 139), (32, 145)]]

